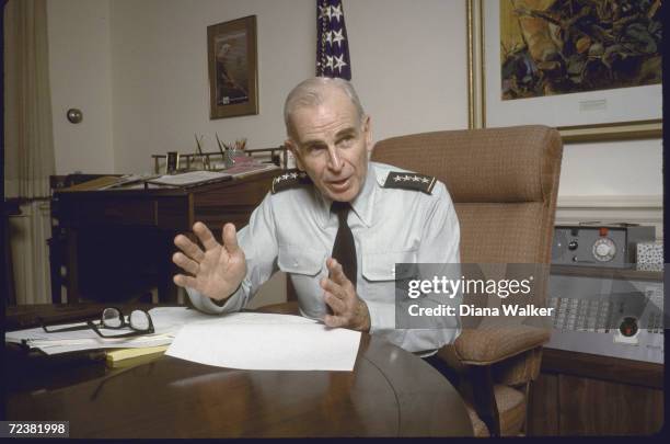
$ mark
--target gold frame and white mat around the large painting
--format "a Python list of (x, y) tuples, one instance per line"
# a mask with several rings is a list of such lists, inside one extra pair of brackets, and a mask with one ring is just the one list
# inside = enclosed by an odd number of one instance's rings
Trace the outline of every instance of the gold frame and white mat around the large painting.
[[(499, 24), (496, 26), (492, 20), (498, 12), (496, 8), (499, 8), (499, 0), (465, 0), (465, 3), (470, 128), (544, 124), (556, 127), (563, 141), (568, 144), (662, 137), (661, 84), (522, 99), (525, 101), (522, 105), (503, 103), (501, 99), (493, 95), (494, 91), (500, 91)], [(493, 25), (490, 22), (494, 22)], [(492, 62), (496, 61), (495, 56), (498, 57), (497, 62)], [(498, 81), (497, 89), (495, 89), (496, 81)], [(643, 91), (646, 96), (656, 94), (657, 99), (654, 100), (658, 100), (658, 106), (655, 106), (658, 112), (648, 112), (648, 110), (640, 112), (636, 111), (635, 106), (626, 106), (625, 115), (608, 112), (608, 103), (616, 105), (625, 102), (628, 105), (631, 94)], [(533, 102), (534, 109), (520, 112), (522, 106), (530, 102)], [(643, 102), (644, 100), (640, 100), (640, 103)], [(605, 111), (598, 110), (600, 111), (598, 115), (594, 113), (589, 115), (588, 112), (581, 112), (584, 103), (604, 103)], [(533, 111), (543, 109), (551, 111), (545, 114)], [(531, 119), (523, 117), (523, 114), (529, 113), (532, 114)], [(562, 116), (561, 113), (566, 115)]]

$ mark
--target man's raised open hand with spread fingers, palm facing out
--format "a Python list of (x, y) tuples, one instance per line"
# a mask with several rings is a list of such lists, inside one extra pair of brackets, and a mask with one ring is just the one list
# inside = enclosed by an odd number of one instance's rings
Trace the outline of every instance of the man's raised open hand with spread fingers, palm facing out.
[(221, 231), (223, 244), (217, 242), (205, 224), (194, 224), (193, 232), (204, 251), (184, 235), (174, 238), (174, 244), (182, 251), (174, 253), (172, 261), (187, 273), (173, 277), (176, 285), (192, 287), (216, 300), (226, 299), (238, 289), (246, 275), (246, 260), (238, 246), (235, 226), (226, 224)]

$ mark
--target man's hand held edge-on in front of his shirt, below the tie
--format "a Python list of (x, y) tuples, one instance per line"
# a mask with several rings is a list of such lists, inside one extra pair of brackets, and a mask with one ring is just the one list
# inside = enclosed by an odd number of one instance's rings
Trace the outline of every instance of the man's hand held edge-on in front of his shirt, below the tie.
[(326, 261), (331, 277), (321, 280), (325, 291), (324, 300), (333, 310), (323, 321), (328, 327), (344, 327), (358, 331), (370, 331), (370, 312), (366, 303), (356, 295), (351, 281), (344, 274), (342, 265), (333, 258)]

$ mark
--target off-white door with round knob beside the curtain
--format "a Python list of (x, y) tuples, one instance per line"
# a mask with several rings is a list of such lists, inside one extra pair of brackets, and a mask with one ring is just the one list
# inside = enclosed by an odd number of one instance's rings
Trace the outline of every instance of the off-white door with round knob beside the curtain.
[(56, 173), (113, 172), (109, 0), (48, 0), (47, 21)]

